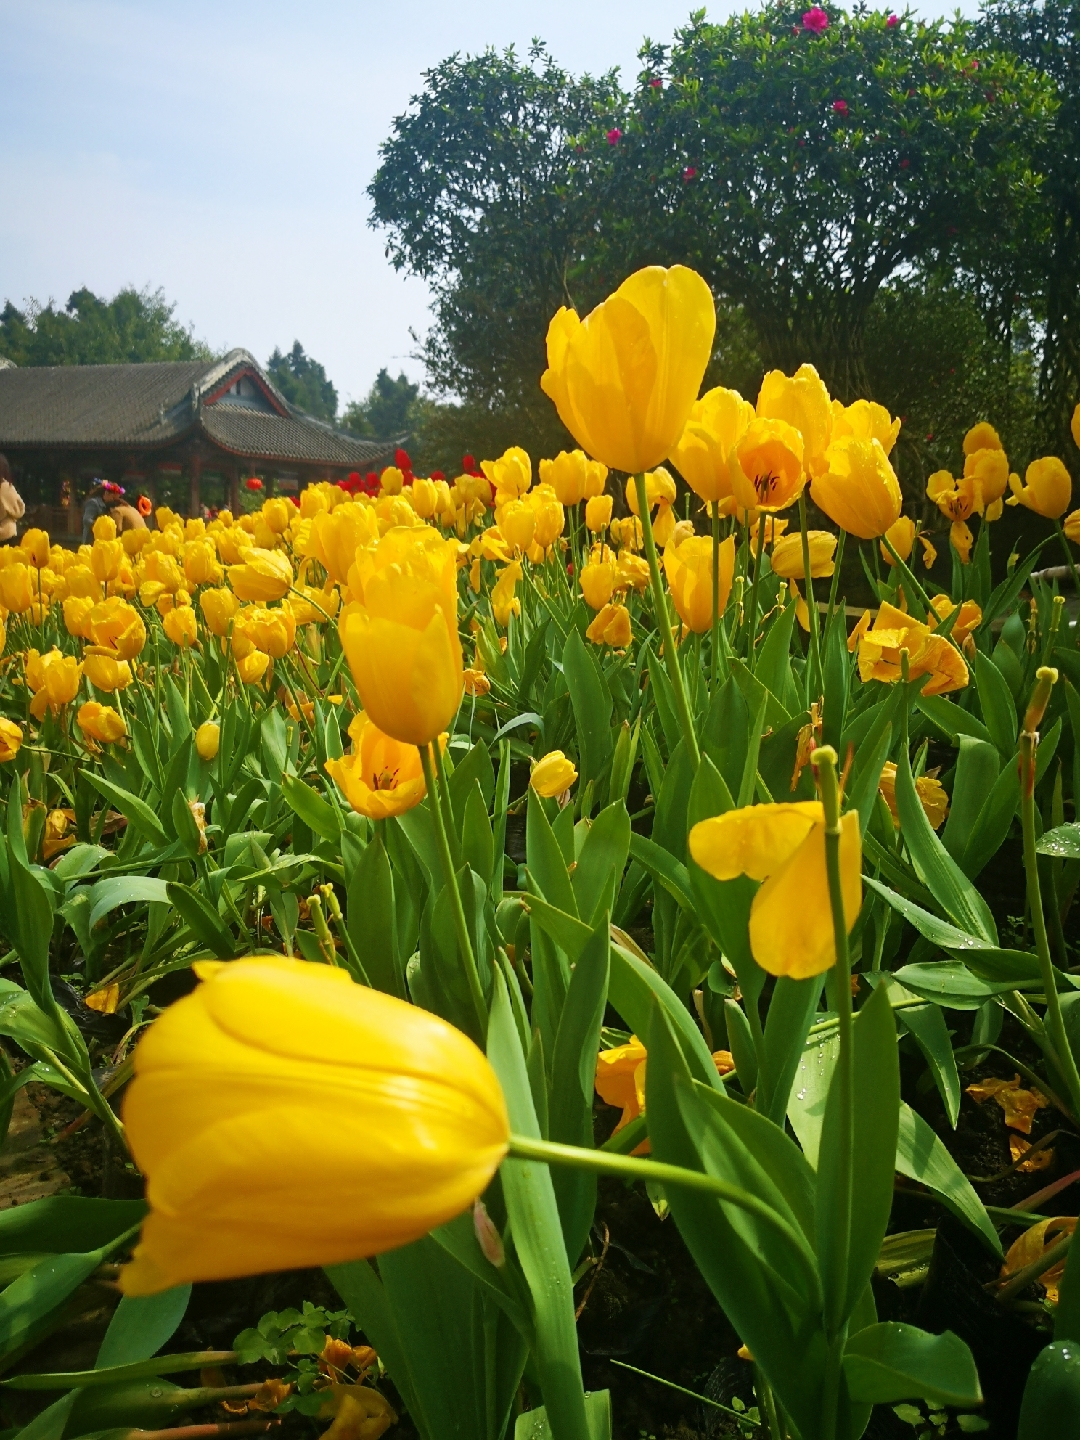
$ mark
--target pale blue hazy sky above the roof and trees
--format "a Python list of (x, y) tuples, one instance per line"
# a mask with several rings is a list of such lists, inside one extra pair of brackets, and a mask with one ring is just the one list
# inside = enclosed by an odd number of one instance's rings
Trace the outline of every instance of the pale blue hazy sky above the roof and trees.
[(343, 405), (383, 364), (419, 379), (426, 289), (384, 261), (364, 190), (422, 72), (539, 35), (570, 69), (632, 76), (642, 36), (668, 40), (690, 9), (0, 0), (0, 301), (161, 285), (215, 347), (265, 360), (300, 338)]

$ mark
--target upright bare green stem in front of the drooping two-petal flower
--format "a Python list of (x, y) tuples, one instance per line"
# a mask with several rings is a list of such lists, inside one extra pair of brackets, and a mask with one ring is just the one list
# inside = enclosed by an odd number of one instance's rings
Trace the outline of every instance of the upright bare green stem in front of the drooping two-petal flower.
[(825, 1361), (824, 1384), (824, 1413), (821, 1433), (825, 1440), (832, 1440), (837, 1428), (837, 1411), (840, 1403), (841, 1359), (844, 1341), (847, 1336), (847, 1320), (844, 1318), (844, 1296), (848, 1286), (848, 1253), (851, 1248), (851, 1210), (854, 1198), (854, 1132), (855, 1132), (855, 1086), (854, 1086), (854, 1045), (852, 1045), (852, 1015), (851, 1015), (851, 958), (848, 953), (848, 927), (844, 916), (844, 888), (840, 874), (840, 780), (837, 778), (837, 752), (832, 746), (819, 746), (812, 756), (812, 765), (818, 775), (821, 802), (825, 809), (825, 870), (829, 886), (829, 904), (832, 909), (832, 936), (837, 950), (837, 960), (832, 969), (834, 989), (837, 998), (837, 1034), (840, 1053), (837, 1056), (837, 1070), (832, 1084), (837, 1086), (840, 1145), (837, 1146), (837, 1164), (840, 1166), (840, 1181), (837, 1185), (837, 1205), (831, 1217), (831, 1227), (837, 1236), (835, 1254), (838, 1259), (835, 1284), (827, 1297), (825, 1333), (828, 1335), (829, 1351)]

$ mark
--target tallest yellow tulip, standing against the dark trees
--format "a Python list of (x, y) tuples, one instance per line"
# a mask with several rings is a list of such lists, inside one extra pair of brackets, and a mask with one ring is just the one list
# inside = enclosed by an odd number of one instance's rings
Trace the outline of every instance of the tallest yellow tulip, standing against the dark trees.
[(585, 320), (560, 310), (547, 328), (540, 384), (589, 455), (631, 475), (678, 444), (713, 350), (716, 307), (683, 265), (651, 265)]

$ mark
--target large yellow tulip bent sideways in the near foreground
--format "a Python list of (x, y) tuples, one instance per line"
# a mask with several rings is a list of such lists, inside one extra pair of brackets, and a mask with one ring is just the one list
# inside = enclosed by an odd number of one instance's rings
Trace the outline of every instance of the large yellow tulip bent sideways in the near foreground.
[(380, 1254), (484, 1191), (508, 1122), (471, 1040), (328, 965), (199, 972), (124, 1099), (150, 1201), (125, 1295)]

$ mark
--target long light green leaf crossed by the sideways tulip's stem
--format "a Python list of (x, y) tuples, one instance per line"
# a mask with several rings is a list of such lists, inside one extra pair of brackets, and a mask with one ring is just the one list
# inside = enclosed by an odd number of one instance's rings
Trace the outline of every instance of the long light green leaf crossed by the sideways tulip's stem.
[[(511, 1130), (539, 1139), (540, 1128), (533, 1109), (526, 1057), (501, 971), (495, 971), (488, 1060), (503, 1086)], [(536, 1161), (507, 1159), (500, 1178), (514, 1248), (533, 1299), (533, 1359), (544, 1407), (556, 1434), (583, 1436), (588, 1421), (573, 1315), (573, 1280), (552, 1175), (547, 1165)]]

